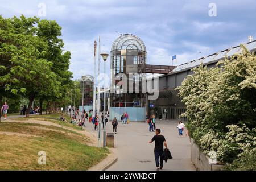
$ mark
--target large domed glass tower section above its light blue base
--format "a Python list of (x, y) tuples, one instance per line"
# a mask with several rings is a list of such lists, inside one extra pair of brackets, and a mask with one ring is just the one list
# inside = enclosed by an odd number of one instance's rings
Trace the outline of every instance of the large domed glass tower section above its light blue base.
[(119, 36), (111, 51), (110, 107), (145, 107), (146, 47), (135, 35)]

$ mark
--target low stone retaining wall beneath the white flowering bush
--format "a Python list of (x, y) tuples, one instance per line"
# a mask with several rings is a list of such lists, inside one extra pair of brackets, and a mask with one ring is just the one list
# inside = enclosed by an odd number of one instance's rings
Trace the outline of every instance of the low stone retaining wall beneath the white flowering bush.
[(200, 151), (199, 146), (191, 138), (191, 161), (199, 171), (218, 171), (224, 167), (223, 164), (210, 164), (209, 158)]

